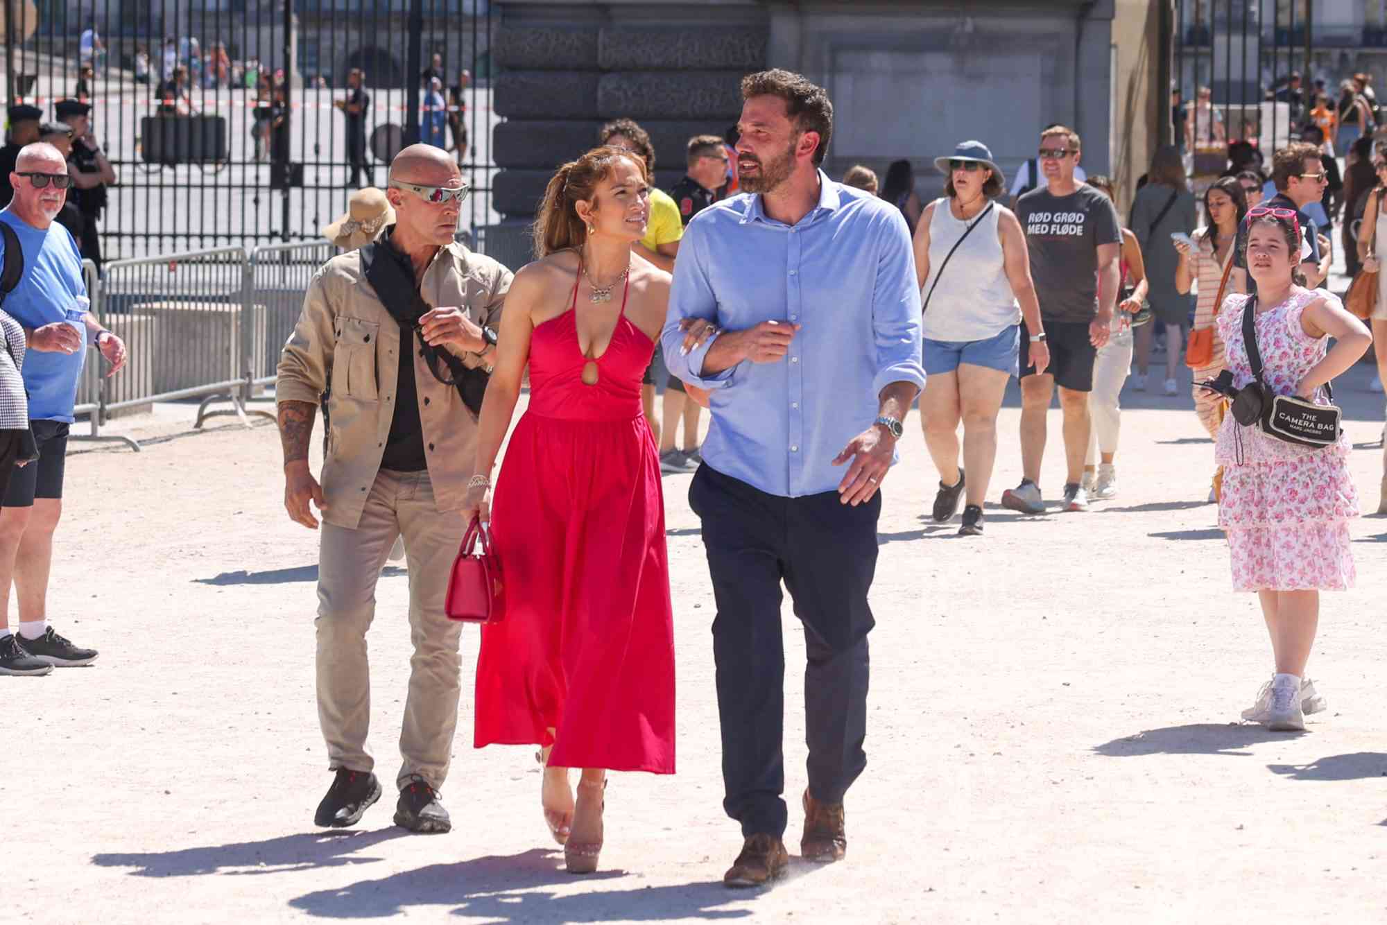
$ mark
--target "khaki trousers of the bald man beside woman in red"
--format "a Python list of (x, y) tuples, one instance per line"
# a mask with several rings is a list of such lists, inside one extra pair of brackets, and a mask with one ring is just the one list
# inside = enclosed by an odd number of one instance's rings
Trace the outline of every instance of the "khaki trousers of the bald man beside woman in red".
[(409, 566), (409, 695), (397, 784), (413, 775), (434, 789), (448, 777), (458, 727), (462, 624), (444, 613), (448, 576), (466, 524), (462, 512), (434, 508), (427, 472), (380, 470), (355, 530), (322, 524), (318, 564), (318, 720), (329, 768), (370, 771), (370, 668), (366, 630), (376, 616), (376, 581), (397, 537)]

